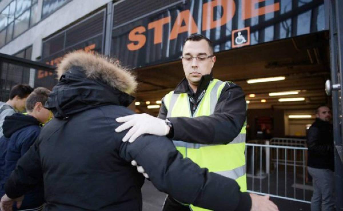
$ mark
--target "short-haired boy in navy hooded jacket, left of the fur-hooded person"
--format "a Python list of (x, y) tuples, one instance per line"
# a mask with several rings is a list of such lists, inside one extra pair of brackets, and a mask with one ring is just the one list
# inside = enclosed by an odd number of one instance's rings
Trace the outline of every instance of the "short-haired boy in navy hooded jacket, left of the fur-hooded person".
[[(43, 105), (50, 91), (44, 87), (36, 88), (26, 99), (27, 115), (13, 114), (5, 117), (4, 136), (0, 138), (0, 195), (4, 195), (4, 184), (15, 169), (17, 161), (33, 145), (40, 133), (40, 124), (46, 123), (51, 112)], [(43, 187), (38, 186), (25, 194), (20, 210), (42, 210), (44, 203)], [(14, 208), (14, 210), (16, 210)]]

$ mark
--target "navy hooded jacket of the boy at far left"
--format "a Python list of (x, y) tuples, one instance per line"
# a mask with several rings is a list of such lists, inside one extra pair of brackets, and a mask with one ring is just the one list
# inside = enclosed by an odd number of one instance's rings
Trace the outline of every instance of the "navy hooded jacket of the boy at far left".
[[(4, 184), (17, 161), (33, 145), (40, 133), (40, 122), (30, 115), (6, 116), (3, 123), (4, 136), (0, 138), (0, 196), (5, 194)], [(43, 187), (36, 187), (25, 194), (21, 209), (32, 209), (44, 203)]]

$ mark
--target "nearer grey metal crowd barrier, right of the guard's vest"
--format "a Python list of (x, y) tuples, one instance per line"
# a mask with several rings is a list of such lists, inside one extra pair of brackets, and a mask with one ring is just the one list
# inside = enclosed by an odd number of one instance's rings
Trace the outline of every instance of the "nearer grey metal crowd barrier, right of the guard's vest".
[(273, 145), (246, 144), (248, 192), (310, 203), (313, 189), (306, 185), (307, 148), (282, 145), (290, 144), (288, 140), (279, 139)]

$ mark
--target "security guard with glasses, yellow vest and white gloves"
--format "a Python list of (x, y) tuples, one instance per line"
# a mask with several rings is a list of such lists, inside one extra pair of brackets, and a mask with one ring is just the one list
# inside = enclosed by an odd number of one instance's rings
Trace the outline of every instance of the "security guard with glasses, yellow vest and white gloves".
[[(132, 127), (123, 138), (129, 142), (144, 133), (167, 135), (184, 157), (235, 179), (240, 190), (246, 191), (245, 95), (238, 85), (213, 79), (215, 61), (208, 38), (189, 36), (182, 54), (186, 77), (163, 98), (159, 119), (147, 114), (120, 117), (117, 121), (125, 123), (116, 131)], [(167, 197), (163, 210), (205, 209)]]

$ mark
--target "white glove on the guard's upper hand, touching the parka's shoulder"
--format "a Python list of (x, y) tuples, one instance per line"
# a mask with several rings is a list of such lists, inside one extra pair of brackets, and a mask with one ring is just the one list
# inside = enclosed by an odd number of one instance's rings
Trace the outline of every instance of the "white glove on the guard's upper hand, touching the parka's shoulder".
[(134, 142), (144, 133), (165, 136), (169, 133), (170, 127), (162, 119), (158, 119), (149, 114), (134, 114), (125, 117), (118, 117), (117, 122), (125, 122), (116, 128), (116, 132), (124, 131), (131, 128), (123, 138), (123, 142), (129, 140)]

